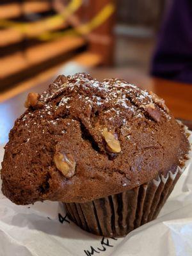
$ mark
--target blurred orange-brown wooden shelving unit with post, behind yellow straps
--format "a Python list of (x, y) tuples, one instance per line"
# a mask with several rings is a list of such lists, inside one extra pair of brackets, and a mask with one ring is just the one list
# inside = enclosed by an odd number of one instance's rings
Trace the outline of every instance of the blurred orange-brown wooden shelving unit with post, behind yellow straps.
[[(95, 17), (96, 11), (99, 12), (103, 6), (111, 3), (111, 0), (103, 1), (101, 3), (92, 0), (91, 2), (94, 4), (89, 3), (87, 6), (82, 4), (78, 10), (74, 8), (76, 17), (71, 19), (80, 23), (88, 22)], [(3, 0), (3, 3), (0, 3), (0, 20), (8, 25), (0, 29), (1, 91), (11, 88), (13, 84), (22, 83), (26, 79), (30, 80), (32, 77), (41, 76), (45, 70), (60, 66), (60, 63), (64, 61), (66, 63), (66, 61), (72, 60), (86, 67), (95, 67), (98, 63), (107, 63), (108, 57), (111, 60), (113, 55), (111, 48), (113, 40), (110, 37), (111, 19), (107, 22), (108, 26), (105, 25), (105, 22), (98, 29), (94, 29), (95, 37), (92, 33), (92, 38), (91, 36), (77, 36), (72, 33), (65, 34), (65, 30), (67, 31), (69, 26), (73, 28), (73, 24), (76, 22), (72, 22), (70, 19), (65, 21), (60, 14), (52, 15), (51, 13), (55, 13), (52, 3), (49, 0), (8, 1), (8, 3)], [(92, 13), (92, 11), (94, 12)], [(39, 19), (28, 19), (28, 17), (33, 16), (33, 13), (38, 13)], [(26, 19), (22, 19), (23, 17), (26, 17), (28, 22), (24, 22)], [(17, 20), (17, 22), (20, 20), (20, 22), (15, 24), (12, 19)], [(106, 29), (103, 29), (105, 26)], [(53, 31), (63, 31), (64, 33), (57, 39), (48, 36), (49, 41), (44, 42), (38, 38), (38, 36), (49, 35)], [(48, 33), (46, 34), (46, 32)], [(110, 45), (102, 44), (100, 38), (109, 38), (110, 40), (106, 41), (110, 41)], [(101, 41), (104, 42), (104, 40)]]

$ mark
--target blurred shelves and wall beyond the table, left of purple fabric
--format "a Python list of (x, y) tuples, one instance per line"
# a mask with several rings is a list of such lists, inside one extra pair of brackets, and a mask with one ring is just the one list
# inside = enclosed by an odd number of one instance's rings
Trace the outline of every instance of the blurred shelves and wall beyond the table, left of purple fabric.
[(94, 67), (148, 74), (169, 3), (1, 0), (0, 93)]

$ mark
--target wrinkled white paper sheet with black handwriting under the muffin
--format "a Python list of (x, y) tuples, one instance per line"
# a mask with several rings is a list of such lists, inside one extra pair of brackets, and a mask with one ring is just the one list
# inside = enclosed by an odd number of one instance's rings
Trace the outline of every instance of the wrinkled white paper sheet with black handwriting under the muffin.
[[(0, 161), (3, 152), (0, 147)], [(32, 255), (191, 256), (192, 159), (157, 220), (123, 238), (97, 237), (81, 230), (58, 202), (20, 206), (0, 193), (0, 256)]]

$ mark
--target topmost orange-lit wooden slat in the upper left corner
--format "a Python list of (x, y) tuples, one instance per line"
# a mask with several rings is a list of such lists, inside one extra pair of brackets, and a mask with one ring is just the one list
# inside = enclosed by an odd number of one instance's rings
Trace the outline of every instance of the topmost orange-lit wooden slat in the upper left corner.
[(13, 19), (22, 13), (40, 13), (51, 10), (49, 1), (30, 1), (26, 3), (12, 3), (0, 5), (0, 19)]

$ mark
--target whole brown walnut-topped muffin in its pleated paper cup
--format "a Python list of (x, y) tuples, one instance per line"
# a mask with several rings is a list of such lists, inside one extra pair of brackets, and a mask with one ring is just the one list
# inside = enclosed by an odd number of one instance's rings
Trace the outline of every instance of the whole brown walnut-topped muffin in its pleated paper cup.
[(63, 202), (100, 236), (125, 236), (154, 220), (182, 174), (184, 127), (164, 100), (120, 79), (59, 76), (10, 131), (1, 179), (19, 205)]

